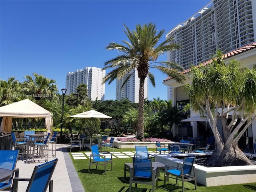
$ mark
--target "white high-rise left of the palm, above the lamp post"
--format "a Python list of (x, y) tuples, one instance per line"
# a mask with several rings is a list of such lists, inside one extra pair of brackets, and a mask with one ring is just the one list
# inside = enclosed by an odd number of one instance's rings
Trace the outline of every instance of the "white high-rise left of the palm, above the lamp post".
[(86, 84), (88, 89), (88, 97), (91, 100), (104, 101), (105, 84), (102, 85), (102, 79), (105, 77), (106, 71), (96, 67), (86, 67), (83, 70), (69, 72), (66, 75), (66, 94), (76, 93), (76, 88), (80, 84)]

